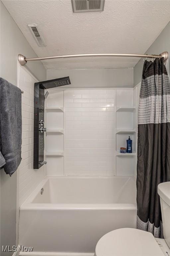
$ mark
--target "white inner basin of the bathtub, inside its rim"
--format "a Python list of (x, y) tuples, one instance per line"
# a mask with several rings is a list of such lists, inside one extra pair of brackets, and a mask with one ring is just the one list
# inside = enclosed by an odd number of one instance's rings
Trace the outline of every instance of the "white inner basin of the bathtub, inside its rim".
[(40, 184), (30, 203), (135, 204), (136, 185), (133, 177), (49, 177)]

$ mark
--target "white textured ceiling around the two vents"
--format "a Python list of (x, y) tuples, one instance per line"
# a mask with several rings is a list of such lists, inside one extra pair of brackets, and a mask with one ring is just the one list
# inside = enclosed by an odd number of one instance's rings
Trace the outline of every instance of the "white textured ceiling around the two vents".
[[(105, 0), (104, 12), (89, 13), (73, 13), (71, 0), (3, 0), (3, 3), (38, 56), (142, 54), (170, 21), (169, 0)], [(39, 47), (33, 38), (27, 26), (32, 23), (38, 25), (45, 47)], [(138, 60), (95, 57), (42, 62), (46, 69), (76, 69), (134, 67)]]

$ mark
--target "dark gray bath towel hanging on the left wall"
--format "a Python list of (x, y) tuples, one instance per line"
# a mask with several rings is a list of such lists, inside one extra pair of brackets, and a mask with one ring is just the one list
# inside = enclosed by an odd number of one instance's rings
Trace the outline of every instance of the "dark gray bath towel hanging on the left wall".
[(4, 170), (10, 176), (17, 170), (22, 159), (21, 113), (21, 90), (0, 78), (0, 163), (4, 163)]

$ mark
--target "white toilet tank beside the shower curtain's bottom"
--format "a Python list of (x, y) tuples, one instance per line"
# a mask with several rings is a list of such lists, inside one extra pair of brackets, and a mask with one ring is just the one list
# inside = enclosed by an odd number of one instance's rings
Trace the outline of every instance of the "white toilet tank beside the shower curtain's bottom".
[(163, 235), (170, 248), (170, 182), (160, 183), (158, 185), (158, 194), (161, 203)]

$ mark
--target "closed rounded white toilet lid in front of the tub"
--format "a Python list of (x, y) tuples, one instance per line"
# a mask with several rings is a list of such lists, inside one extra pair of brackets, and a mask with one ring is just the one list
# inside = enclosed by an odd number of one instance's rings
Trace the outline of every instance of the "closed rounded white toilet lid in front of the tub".
[(154, 236), (134, 228), (120, 228), (104, 235), (96, 245), (96, 256), (163, 256)]

